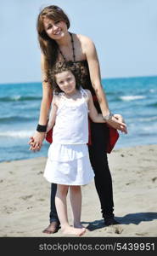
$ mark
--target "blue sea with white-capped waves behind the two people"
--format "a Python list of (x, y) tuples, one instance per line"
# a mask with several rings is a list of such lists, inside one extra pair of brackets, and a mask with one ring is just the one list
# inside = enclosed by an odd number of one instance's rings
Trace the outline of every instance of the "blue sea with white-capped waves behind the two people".
[[(121, 113), (128, 134), (121, 133), (115, 149), (157, 144), (157, 76), (102, 79), (113, 113)], [(49, 143), (41, 151), (29, 150), (36, 131), (41, 83), (0, 84), (0, 161), (47, 156)]]

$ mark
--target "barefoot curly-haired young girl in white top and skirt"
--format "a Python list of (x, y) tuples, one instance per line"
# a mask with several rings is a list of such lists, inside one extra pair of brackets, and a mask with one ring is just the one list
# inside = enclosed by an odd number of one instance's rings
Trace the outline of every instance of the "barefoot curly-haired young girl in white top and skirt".
[[(55, 205), (62, 232), (82, 236), (86, 229), (81, 225), (81, 185), (94, 177), (87, 149), (88, 113), (93, 122), (104, 123), (104, 119), (93, 105), (91, 92), (77, 84), (69, 67), (58, 67), (53, 74), (53, 102), (47, 128), (48, 132), (53, 127), (53, 143), (48, 149), (44, 177), (57, 183)], [(74, 227), (67, 216), (69, 189)]]

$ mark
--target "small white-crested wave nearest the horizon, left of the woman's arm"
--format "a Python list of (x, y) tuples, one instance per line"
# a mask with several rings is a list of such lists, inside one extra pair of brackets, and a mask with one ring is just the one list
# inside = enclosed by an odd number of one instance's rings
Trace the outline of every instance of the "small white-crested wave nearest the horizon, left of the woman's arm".
[(42, 97), (40, 96), (6, 96), (0, 97), (0, 102), (25, 102), (25, 101), (41, 101)]

